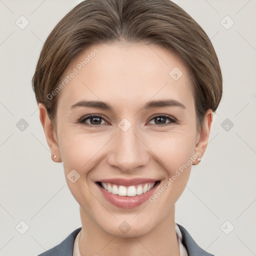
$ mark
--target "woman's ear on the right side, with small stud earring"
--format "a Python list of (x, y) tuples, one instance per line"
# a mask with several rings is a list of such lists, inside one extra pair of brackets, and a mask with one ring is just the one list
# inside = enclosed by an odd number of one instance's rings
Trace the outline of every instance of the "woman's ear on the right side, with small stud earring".
[(213, 112), (211, 109), (208, 109), (205, 113), (205, 116), (202, 121), (202, 128), (201, 131), (198, 132), (196, 136), (196, 144), (194, 147), (194, 154), (198, 155), (198, 157), (193, 161), (193, 165), (198, 164), (198, 158), (202, 158), (209, 139), (210, 128), (212, 124)]

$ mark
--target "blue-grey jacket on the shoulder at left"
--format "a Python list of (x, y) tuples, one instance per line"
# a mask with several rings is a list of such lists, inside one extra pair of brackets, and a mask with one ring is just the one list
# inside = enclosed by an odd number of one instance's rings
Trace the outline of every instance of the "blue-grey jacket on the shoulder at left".
[(74, 239), (80, 230), (81, 227), (76, 228), (62, 242), (37, 256), (72, 256)]

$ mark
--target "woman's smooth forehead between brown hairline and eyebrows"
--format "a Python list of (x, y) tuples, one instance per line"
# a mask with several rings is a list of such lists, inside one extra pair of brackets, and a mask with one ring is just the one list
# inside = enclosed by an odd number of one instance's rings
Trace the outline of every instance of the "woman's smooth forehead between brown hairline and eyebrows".
[[(177, 54), (152, 44), (96, 44), (78, 53), (60, 77), (59, 104), (103, 100), (134, 105), (150, 98), (193, 101), (189, 71)], [(68, 76), (68, 78), (67, 78)]]

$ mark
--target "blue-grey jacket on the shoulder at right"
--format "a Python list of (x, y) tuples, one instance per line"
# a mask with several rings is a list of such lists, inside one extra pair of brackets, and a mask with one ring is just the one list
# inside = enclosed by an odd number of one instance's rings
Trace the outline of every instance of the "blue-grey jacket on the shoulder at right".
[(179, 230), (182, 234), (182, 243), (184, 244), (187, 254), (189, 256), (214, 256), (213, 254), (208, 253), (194, 241), (194, 239), (191, 237), (191, 235), (187, 232), (187, 230), (178, 224)]

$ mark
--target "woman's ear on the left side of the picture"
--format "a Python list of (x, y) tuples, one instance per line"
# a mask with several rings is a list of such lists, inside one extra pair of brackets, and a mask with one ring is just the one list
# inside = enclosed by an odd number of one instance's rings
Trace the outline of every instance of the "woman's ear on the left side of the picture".
[[(51, 159), (55, 162), (61, 162), (56, 131), (51, 124), (45, 106), (42, 103), (38, 103), (38, 108), (43, 131), (51, 151)], [(56, 158), (53, 155), (56, 155)]]

